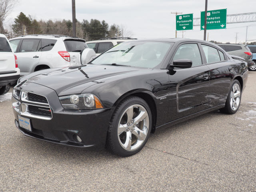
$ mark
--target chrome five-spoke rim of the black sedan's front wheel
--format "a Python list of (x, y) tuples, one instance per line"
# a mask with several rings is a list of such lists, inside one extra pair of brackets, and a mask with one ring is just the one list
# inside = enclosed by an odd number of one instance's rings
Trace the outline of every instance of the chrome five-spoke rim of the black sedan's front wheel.
[(118, 140), (122, 148), (127, 151), (139, 148), (146, 139), (148, 126), (147, 110), (139, 104), (129, 106), (118, 124)]

